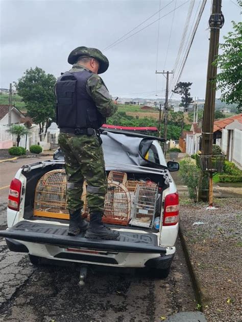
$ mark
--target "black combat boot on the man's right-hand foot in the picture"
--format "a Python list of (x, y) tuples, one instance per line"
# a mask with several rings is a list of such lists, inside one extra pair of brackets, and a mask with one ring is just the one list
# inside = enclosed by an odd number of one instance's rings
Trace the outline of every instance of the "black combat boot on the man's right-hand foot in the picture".
[(87, 238), (117, 239), (119, 232), (103, 225), (102, 213), (93, 212), (90, 214), (90, 225), (86, 232)]

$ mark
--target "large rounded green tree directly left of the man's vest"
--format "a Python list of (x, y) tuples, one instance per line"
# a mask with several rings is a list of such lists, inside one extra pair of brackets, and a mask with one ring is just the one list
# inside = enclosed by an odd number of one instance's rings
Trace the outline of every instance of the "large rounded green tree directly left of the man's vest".
[(55, 120), (55, 83), (54, 75), (46, 74), (43, 69), (35, 67), (27, 69), (16, 85), (18, 94), (26, 104), (28, 116), (39, 124), (40, 140), (44, 128), (46, 134), (47, 128)]

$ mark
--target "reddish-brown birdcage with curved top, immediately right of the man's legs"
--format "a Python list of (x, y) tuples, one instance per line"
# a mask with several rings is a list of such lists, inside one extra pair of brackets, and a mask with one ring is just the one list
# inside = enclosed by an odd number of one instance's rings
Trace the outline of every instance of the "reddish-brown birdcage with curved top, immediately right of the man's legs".
[(130, 220), (131, 197), (128, 189), (116, 181), (108, 180), (108, 191), (104, 203), (103, 222), (127, 225)]

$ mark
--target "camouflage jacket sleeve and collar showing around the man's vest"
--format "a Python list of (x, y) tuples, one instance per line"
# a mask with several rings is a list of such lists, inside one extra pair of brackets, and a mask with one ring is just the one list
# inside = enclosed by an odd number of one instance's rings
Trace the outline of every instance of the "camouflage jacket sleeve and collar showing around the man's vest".
[[(88, 68), (75, 64), (69, 72), (73, 73), (82, 70), (88, 70)], [(99, 75), (93, 74), (88, 78), (86, 89), (93, 99), (96, 108), (104, 117), (110, 117), (117, 111), (117, 105), (113, 103), (108, 89)]]

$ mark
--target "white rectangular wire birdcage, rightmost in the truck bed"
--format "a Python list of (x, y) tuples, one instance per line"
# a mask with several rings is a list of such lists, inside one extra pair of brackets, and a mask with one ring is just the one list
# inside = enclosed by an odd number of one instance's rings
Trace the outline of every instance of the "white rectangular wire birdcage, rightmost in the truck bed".
[(157, 184), (138, 184), (136, 186), (131, 225), (152, 227), (157, 209), (157, 196)]

